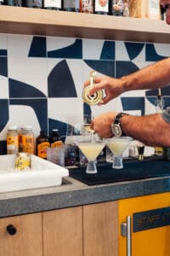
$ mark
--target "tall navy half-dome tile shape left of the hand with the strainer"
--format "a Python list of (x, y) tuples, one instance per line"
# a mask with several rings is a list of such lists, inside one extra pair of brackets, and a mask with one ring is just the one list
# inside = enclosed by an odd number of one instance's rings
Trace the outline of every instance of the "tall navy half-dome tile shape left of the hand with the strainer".
[(48, 97), (77, 97), (75, 84), (66, 61), (60, 61), (49, 73)]

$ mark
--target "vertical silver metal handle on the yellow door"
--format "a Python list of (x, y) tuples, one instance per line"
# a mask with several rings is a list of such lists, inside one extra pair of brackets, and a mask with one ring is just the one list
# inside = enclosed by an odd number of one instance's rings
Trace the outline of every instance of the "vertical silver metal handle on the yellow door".
[(129, 215), (127, 216), (127, 222), (121, 224), (121, 236), (127, 237), (127, 256), (132, 256), (132, 230)]

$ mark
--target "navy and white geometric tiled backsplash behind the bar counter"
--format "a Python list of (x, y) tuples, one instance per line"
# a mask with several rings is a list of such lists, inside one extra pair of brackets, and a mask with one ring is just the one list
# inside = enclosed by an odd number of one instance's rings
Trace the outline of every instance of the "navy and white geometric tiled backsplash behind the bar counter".
[[(82, 102), (82, 84), (92, 69), (118, 78), (169, 55), (169, 44), (0, 34), (0, 154), (6, 153), (9, 124), (31, 124), (35, 137), (53, 128), (65, 136), (67, 123), (75, 125), (77, 117), (90, 113)], [(107, 111), (153, 113), (156, 94), (124, 93), (94, 107), (94, 116)], [(169, 86), (162, 94), (170, 106)]]

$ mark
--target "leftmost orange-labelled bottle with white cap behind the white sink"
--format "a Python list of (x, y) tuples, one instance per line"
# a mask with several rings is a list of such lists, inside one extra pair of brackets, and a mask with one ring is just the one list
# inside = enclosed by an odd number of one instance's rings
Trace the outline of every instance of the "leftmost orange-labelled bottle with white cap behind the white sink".
[(7, 154), (17, 154), (19, 151), (19, 133), (17, 125), (9, 125), (7, 132)]

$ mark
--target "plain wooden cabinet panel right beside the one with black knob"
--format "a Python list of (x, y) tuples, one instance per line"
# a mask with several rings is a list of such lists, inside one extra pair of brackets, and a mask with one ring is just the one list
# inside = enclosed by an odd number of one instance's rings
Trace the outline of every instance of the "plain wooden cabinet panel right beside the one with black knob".
[(82, 256), (82, 207), (42, 212), (43, 256)]

